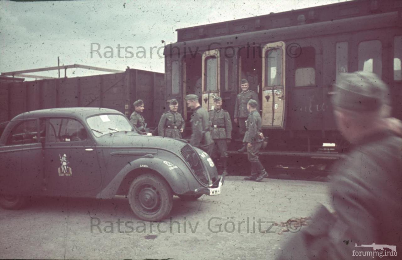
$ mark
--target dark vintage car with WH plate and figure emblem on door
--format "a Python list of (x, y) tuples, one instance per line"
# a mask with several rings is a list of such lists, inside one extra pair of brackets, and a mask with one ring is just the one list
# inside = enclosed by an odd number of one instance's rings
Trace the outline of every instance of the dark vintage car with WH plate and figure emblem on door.
[(166, 218), (173, 195), (197, 199), (222, 190), (211, 158), (184, 140), (139, 135), (113, 109), (59, 108), (23, 113), (0, 137), (0, 204), (28, 196), (125, 195), (140, 219)]

